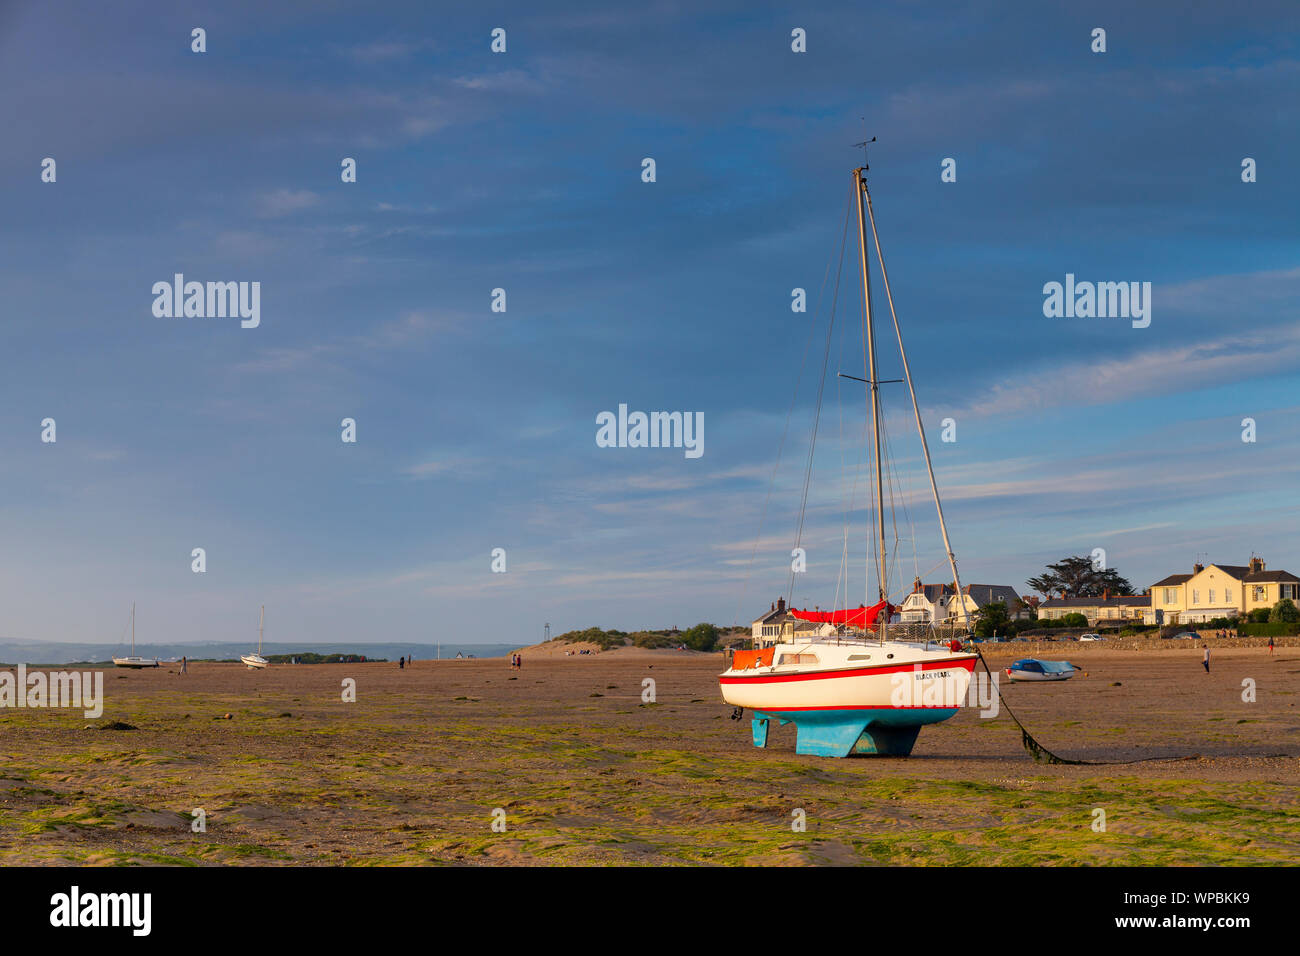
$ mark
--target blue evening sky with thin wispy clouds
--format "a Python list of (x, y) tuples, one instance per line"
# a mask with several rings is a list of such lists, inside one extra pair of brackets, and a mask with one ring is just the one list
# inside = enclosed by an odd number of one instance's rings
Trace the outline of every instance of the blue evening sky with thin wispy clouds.
[[(824, 334), (790, 290), (838, 251), (861, 117), (963, 580), (1300, 571), (1294, 4), (472, 7), (0, 5), (0, 635), (116, 640), (131, 600), (168, 641), (260, 604), (295, 641), (748, 622)], [(260, 326), (156, 319), (177, 272), (260, 281)], [(1152, 282), (1150, 326), (1044, 317), (1067, 272)], [(946, 572), (890, 388), (897, 593)], [(597, 447), (619, 403), (703, 412), (703, 457)], [(828, 386), (798, 604), (836, 600), (846, 510), (863, 593), (862, 414)]]

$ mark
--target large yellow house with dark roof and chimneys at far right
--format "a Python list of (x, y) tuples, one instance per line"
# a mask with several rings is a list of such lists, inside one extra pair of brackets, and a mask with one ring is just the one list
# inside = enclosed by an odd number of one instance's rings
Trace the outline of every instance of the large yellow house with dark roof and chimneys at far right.
[(1150, 585), (1149, 623), (1156, 613), (1166, 624), (1190, 624), (1244, 615), (1282, 598), (1300, 600), (1300, 578), (1269, 571), (1260, 558), (1249, 564), (1193, 564), (1190, 575), (1170, 575)]

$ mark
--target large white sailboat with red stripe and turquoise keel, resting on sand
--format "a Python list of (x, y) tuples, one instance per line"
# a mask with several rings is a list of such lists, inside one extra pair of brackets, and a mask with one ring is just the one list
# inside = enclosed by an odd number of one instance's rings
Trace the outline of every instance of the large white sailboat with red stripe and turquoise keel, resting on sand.
[[(866, 147), (866, 143), (862, 144)], [(957, 593), (961, 578), (957, 559), (948, 540), (944, 509), (939, 499), (939, 486), (926, 444), (916, 392), (913, 388), (907, 352), (902, 345), (902, 332), (894, 313), (889, 277), (876, 233), (871, 194), (867, 190), (867, 164), (853, 170), (853, 206), (857, 208), (858, 250), (862, 271), (863, 298), (863, 356), (867, 377), (858, 378), (840, 373), (840, 377), (861, 381), (867, 386), (874, 433), (874, 501), (872, 548), (878, 550), (876, 601), (871, 606), (822, 610), (790, 610), (793, 620), (781, 624), (775, 644), (754, 650), (740, 650), (718, 680), (723, 698), (740, 711), (753, 711), (751, 730), (755, 747), (767, 747), (771, 721), (793, 723), (797, 731), (796, 753), (824, 757), (849, 754), (906, 756), (916, 741), (920, 728), (953, 717), (966, 698), (976, 656), (961, 650), (956, 640), (941, 644), (931, 640), (927, 631), (922, 640), (909, 640), (911, 626), (896, 624), (898, 640), (892, 640), (890, 619), (897, 607), (889, 601), (888, 554), (885, 546), (884, 477), (881, 464), (881, 384), (876, 373), (876, 342), (871, 312), (871, 280), (867, 269), (867, 226), (875, 239), (875, 252), (880, 261), (885, 297), (898, 339), (904, 378), (911, 394), (913, 412), (926, 470), (939, 512), (944, 550), (952, 567)], [(848, 225), (848, 220), (845, 220)], [(841, 251), (842, 256), (842, 251)], [(829, 332), (828, 332), (829, 345)], [(898, 381), (898, 380), (894, 380)], [(818, 399), (820, 411), (820, 397)], [(815, 442), (815, 429), (814, 429)], [(809, 459), (811, 475), (811, 451)], [(806, 483), (805, 483), (806, 484)], [(805, 501), (806, 503), (806, 501)], [(801, 512), (802, 528), (802, 512)], [(848, 533), (848, 532), (846, 532)], [(848, 551), (845, 551), (848, 555)], [(793, 585), (792, 585), (793, 587)], [(965, 606), (962, 607), (966, 615)], [(797, 622), (814, 626), (806, 630)], [(968, 628), (970, 622), (966, 620)]]

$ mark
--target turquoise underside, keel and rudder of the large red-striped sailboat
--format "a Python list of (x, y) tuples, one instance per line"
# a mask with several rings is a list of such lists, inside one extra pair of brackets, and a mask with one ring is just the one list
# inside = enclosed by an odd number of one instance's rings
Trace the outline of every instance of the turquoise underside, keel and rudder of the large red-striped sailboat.
[[(785, 713), (757, 713), (753, 719), (754, 747), (767, 747), (768, 719), (783, 724), (793, 723), (798, 736), (796, 753), (814, 757), (848, 757), (850, 754), (878, 757), (906, 757), (916, 743), (916, 735), (927, 723), (946, 721), (957, 713), (952, 709), (926, 710), (803, 710)], [(762, 727), (759, 726), (762, 724)]]

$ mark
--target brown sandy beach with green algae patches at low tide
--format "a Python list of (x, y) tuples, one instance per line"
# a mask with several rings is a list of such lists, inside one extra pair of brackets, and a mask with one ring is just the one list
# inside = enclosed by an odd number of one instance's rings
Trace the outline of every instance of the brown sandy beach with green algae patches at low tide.
[[(503, 658), (109, 670), (96, 721), (3, 710), (0, 861), (1232, 865), (1300, 852), (1296, 648), (1225, 648), (1205, 674), (1191, 644), (1071, 644), (1043, 656), (1086, 675), (1002, 682), (1061, 756), (1158, 758), (1105, 766), (1035, 763), (1005, 714), (968, 709), (924, 728), (909, 758), (797, 756), (793, 727), (758, 750), (749, 715), (729, 719), (718, 693), (719, 654), (524, 653), (520, 671)], [(1005, 666), (1028, 652), (987, 653)]]

